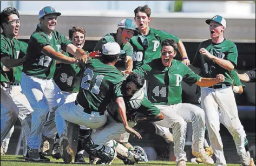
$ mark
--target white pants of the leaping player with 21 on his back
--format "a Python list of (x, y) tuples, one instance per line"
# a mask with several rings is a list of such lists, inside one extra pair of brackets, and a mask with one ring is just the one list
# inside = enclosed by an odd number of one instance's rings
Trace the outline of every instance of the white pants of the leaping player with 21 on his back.
[(65, 121), (83, 125), (91, 129), (99, 129), (106, 124), (107, 111), (103, 115), (100, 115), (99, 112), (88, 114), (83, 110), (84, 108), (79, 104), (75, 105), (75, 102), (64, 103), (64, 105), (56, 110), (55, 122), (59, 136), (63, 134), (67, 136), (67, 125)]

